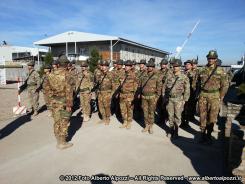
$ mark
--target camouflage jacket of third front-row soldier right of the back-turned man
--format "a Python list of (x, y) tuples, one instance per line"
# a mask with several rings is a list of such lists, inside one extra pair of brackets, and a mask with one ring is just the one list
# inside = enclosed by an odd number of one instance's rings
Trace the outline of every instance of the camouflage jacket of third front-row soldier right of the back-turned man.
[(120, 78), (120, 84), (122, 84), (121, 93), (135, 93), (135, 91), (138, 88), (137, 77), (135, 72), (132, 70), (129, 72), (125, 72), (124, 76)]

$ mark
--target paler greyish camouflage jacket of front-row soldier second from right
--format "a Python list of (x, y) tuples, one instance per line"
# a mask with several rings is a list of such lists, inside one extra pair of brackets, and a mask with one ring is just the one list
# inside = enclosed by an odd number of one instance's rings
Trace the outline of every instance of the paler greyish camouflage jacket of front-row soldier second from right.
[(184, 101), (188, 101), (190, 97), (190, 83), (188, 77), (183, 73), (180, 73), (179, 75), (174, 74), (171, 77), (168, 77), (165, 92), (169, 93), (170, 98), (183, 97)]

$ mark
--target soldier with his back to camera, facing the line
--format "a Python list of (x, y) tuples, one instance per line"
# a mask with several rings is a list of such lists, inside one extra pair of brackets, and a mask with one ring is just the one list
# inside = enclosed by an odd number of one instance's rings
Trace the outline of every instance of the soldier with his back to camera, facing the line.
[(51, 93), (52, 116), (57, 148), (65, 149), (73, 144), (66, 141), (73, 105), (72, 78), (67, 70), (69, 60), (65, 55), (59, 57), (57, 70), (48, 75), (47, 86)]

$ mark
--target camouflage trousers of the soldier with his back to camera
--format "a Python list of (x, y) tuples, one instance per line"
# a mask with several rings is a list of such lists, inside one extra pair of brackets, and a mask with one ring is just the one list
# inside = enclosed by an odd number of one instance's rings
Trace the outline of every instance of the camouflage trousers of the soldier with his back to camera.
[(54, 118), (54, 135), (65, 139), (68, 135), (68, 127), (71, 113), (66, 111), (64, 99), (52, 99), (52, 116)]

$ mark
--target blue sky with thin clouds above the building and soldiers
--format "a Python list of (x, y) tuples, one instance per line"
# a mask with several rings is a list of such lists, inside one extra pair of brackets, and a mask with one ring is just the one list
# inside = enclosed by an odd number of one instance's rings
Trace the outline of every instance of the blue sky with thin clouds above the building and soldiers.
[(245, 0), (1, 0), (0, 41), (32, 46), (65, 31), (127, 38), (175, 52), (201, 22), (181, 58), (216, 49), (224, 64), (245, 52)]

